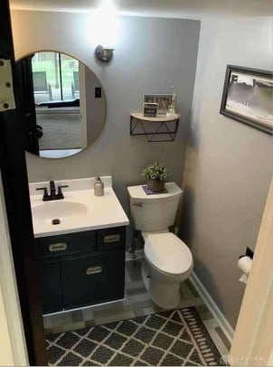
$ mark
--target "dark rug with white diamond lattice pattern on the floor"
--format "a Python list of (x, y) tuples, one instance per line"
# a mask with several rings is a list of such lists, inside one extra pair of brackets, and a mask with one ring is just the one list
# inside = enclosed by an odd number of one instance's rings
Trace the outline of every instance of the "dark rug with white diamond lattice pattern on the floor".
[(47, 336), (50, 365), (225, 365), (194, 307)]

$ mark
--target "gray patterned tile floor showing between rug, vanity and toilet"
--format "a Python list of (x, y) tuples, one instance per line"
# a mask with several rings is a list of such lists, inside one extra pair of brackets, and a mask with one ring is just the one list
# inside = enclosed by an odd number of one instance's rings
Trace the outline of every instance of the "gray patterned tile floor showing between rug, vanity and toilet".
[[(43, 316), (46, 334), (60, 334), (65, 331), (79, 330), (93, 325), (105, 325), (142, 315), (152, 315), (165, 311), (156, 306), (146, 292), (141, 278), (142, 259), (126, 263), (125, 299), (108, 305), (89, 306), (78, 310), (66, 311)], [(204, 305), (191, 281), (187, 279), (181, 286), (181, 302), (177, 309), (194, 306), (200, 315), (221, 355), (227, 354), (231, 344), (221, 332), (211, 312)]]

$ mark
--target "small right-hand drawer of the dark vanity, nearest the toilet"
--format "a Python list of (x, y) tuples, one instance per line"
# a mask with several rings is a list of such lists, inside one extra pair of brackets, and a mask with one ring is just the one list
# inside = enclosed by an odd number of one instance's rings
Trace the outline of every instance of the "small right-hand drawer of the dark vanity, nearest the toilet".
[(118, 249), (125, 247), (125, 227), (106, 228), (98, 231), (98, 249)]

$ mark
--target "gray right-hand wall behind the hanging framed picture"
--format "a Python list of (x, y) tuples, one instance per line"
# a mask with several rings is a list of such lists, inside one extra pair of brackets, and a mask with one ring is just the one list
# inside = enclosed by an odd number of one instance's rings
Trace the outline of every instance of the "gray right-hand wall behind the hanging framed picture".
[(273, 170), (273, 137), (219, 114), (227, 64), (272, 69), (272, 20), (202, 22), (184, 171), (182, 238), (194, 271), (234, 327)]

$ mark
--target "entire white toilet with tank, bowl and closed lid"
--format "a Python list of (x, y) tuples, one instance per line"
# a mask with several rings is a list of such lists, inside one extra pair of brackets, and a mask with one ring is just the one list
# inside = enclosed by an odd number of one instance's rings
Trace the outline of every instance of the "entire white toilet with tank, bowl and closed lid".
[(127, 187), (135, 229), (145, 240), (142, 278), (156, 305), (174, 308), (180, 303), (180, 284), (193, 270), (190, 249), (168, 228), (174, 224), (182, 190), (165, 184), (167, 193), (147, 195), (142, 187)]

